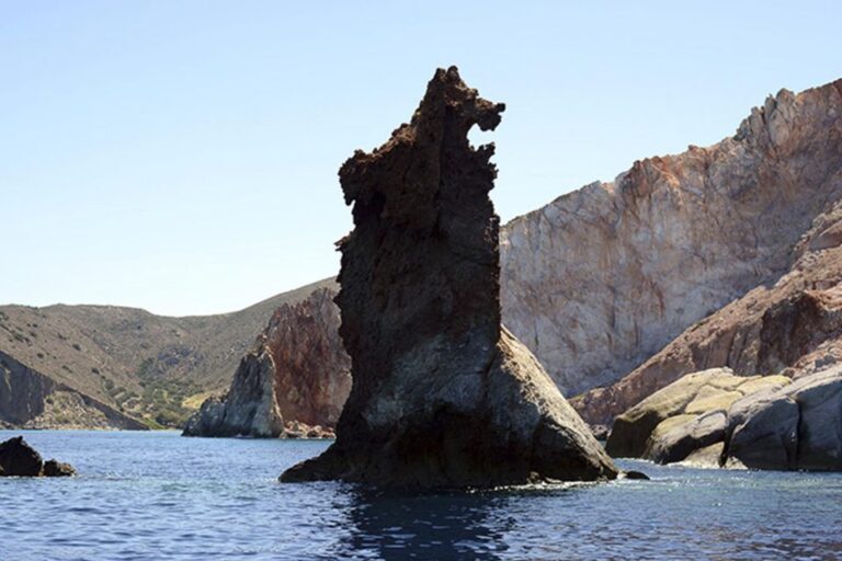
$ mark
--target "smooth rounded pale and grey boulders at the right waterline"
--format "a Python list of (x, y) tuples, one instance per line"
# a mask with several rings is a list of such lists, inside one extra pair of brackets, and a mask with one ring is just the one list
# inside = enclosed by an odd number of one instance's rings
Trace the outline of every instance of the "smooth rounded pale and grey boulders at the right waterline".
[(618, 416), (606, 449), (659, 463), (841, 471), (842, 365), (795, 381), (686, 375)]

